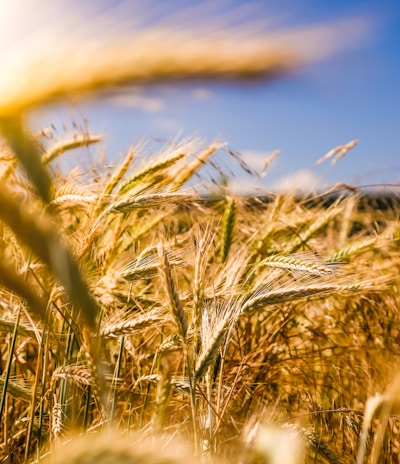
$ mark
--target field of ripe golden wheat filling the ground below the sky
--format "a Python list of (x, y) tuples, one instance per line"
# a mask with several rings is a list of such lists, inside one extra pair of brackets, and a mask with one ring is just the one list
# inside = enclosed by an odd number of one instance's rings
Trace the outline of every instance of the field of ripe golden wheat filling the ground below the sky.
[[(255, 50), (146, 72), (265, 78), (301, 61)], [(74, 79), (44, 68), (0, 92), (0, 462), (398, 462), (398, 197), (236, 196), (204, 166), (245, 160), (196, 138), (60, 169), (101, 135), (33, 134), (26, 112), (147, 80), (114, 52), (88, 80), (77, 60)]]

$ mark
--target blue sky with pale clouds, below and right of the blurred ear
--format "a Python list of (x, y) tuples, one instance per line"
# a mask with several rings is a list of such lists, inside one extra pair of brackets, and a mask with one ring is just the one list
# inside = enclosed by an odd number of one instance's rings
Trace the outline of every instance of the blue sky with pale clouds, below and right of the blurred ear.
[[(249, 2), (229, 2), (228, 8), (243, 3)], [(68, 125), (84, 116), (89, 128), (105, 132), (109, 158), (125, 153), (135, 140), (177, 134), (218, 137), (255, 168), (278, 149), (280, 157), (263, 180), (267, 187), (282, 177), (298, 178), (299, 171), (310, 183), (313, 178), (400, 183), (400, 2), (292, 0), (253, 6), (259, 17), (275, 16), (284, 26), (362, 16), (369, 28), (336, 55), (273, 81), (151, 86), (123, 98), (42, 110), (36, 124)], [(314, 166), (330, 149), (353, 139), (359, 145), (335, 166)]]

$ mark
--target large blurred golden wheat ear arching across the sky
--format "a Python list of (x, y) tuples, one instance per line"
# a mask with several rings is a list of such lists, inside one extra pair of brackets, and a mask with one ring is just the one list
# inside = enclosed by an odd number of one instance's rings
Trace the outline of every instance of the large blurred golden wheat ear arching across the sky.
[(64, 34), (62, 40), (44, 43), (39, 36), (28, 37), (12, 54), (0, 55), (0, 117), (116, 84), (287, 73), (342, 48), (365, 25), (355, 19), (275, 33), (254, 32), (252, 24), (215, 30), (207, 25), (180, 30), (149, 26), (122, 35), (105, 33), (118, 26), (104, 27), (99, 21), (97, 30), (93, 26), (97, 39), (93, 30), (88, 39)]

